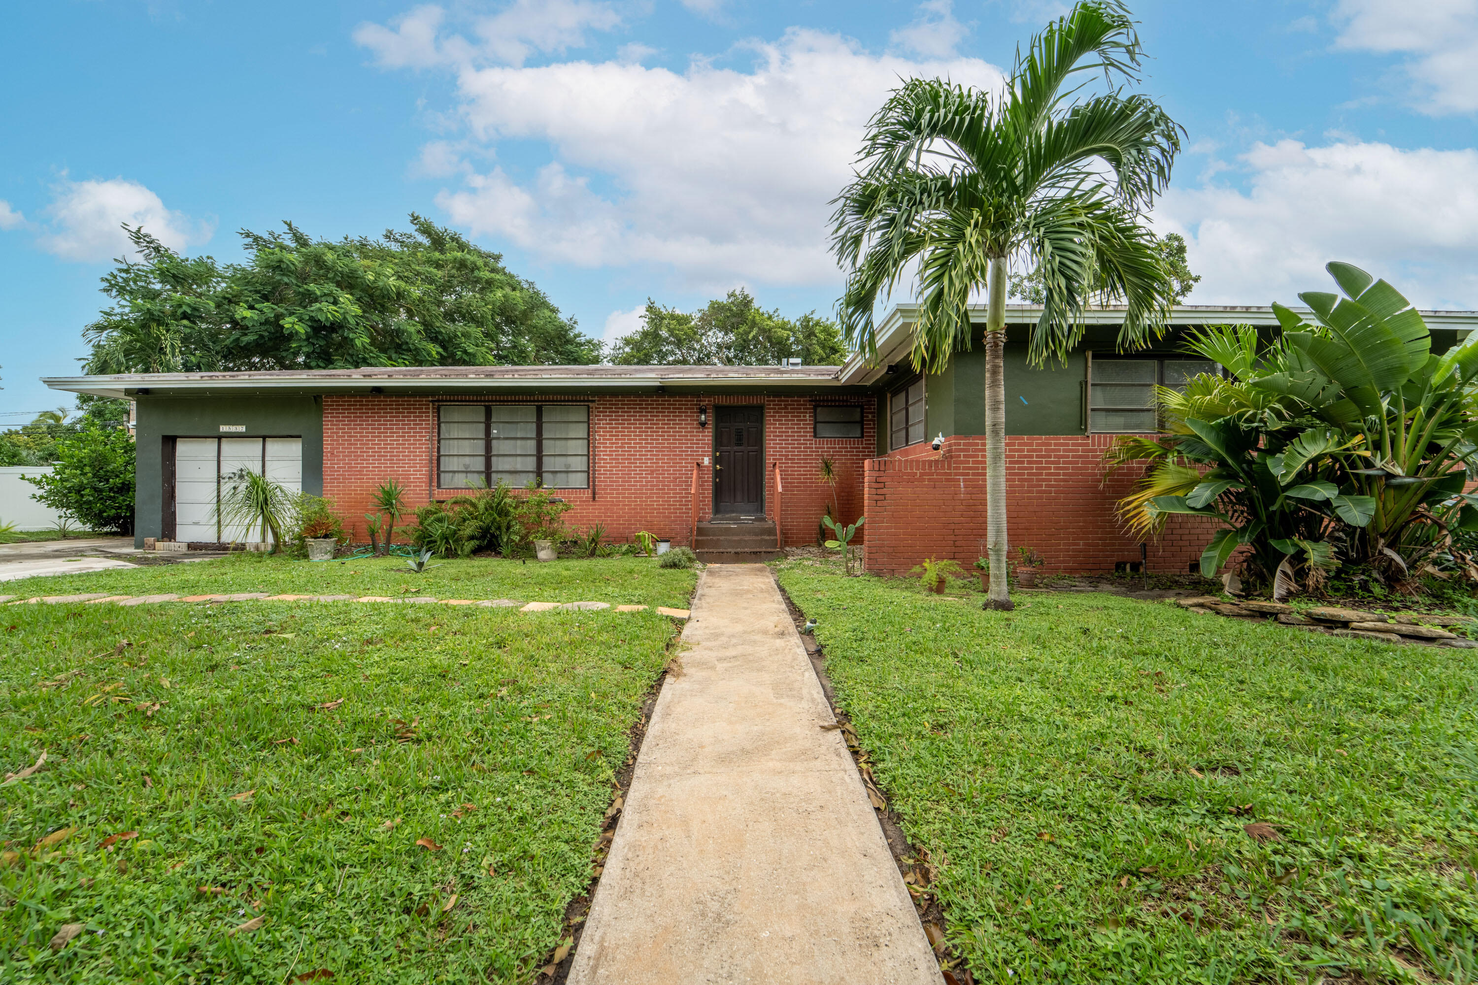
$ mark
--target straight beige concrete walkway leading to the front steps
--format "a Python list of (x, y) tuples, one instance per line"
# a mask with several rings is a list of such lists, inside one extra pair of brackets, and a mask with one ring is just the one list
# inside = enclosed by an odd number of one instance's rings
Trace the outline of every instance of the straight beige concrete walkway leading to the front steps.
[(575, 953), (575, 985), (939, 985), (770, 570), (709, 567)]

